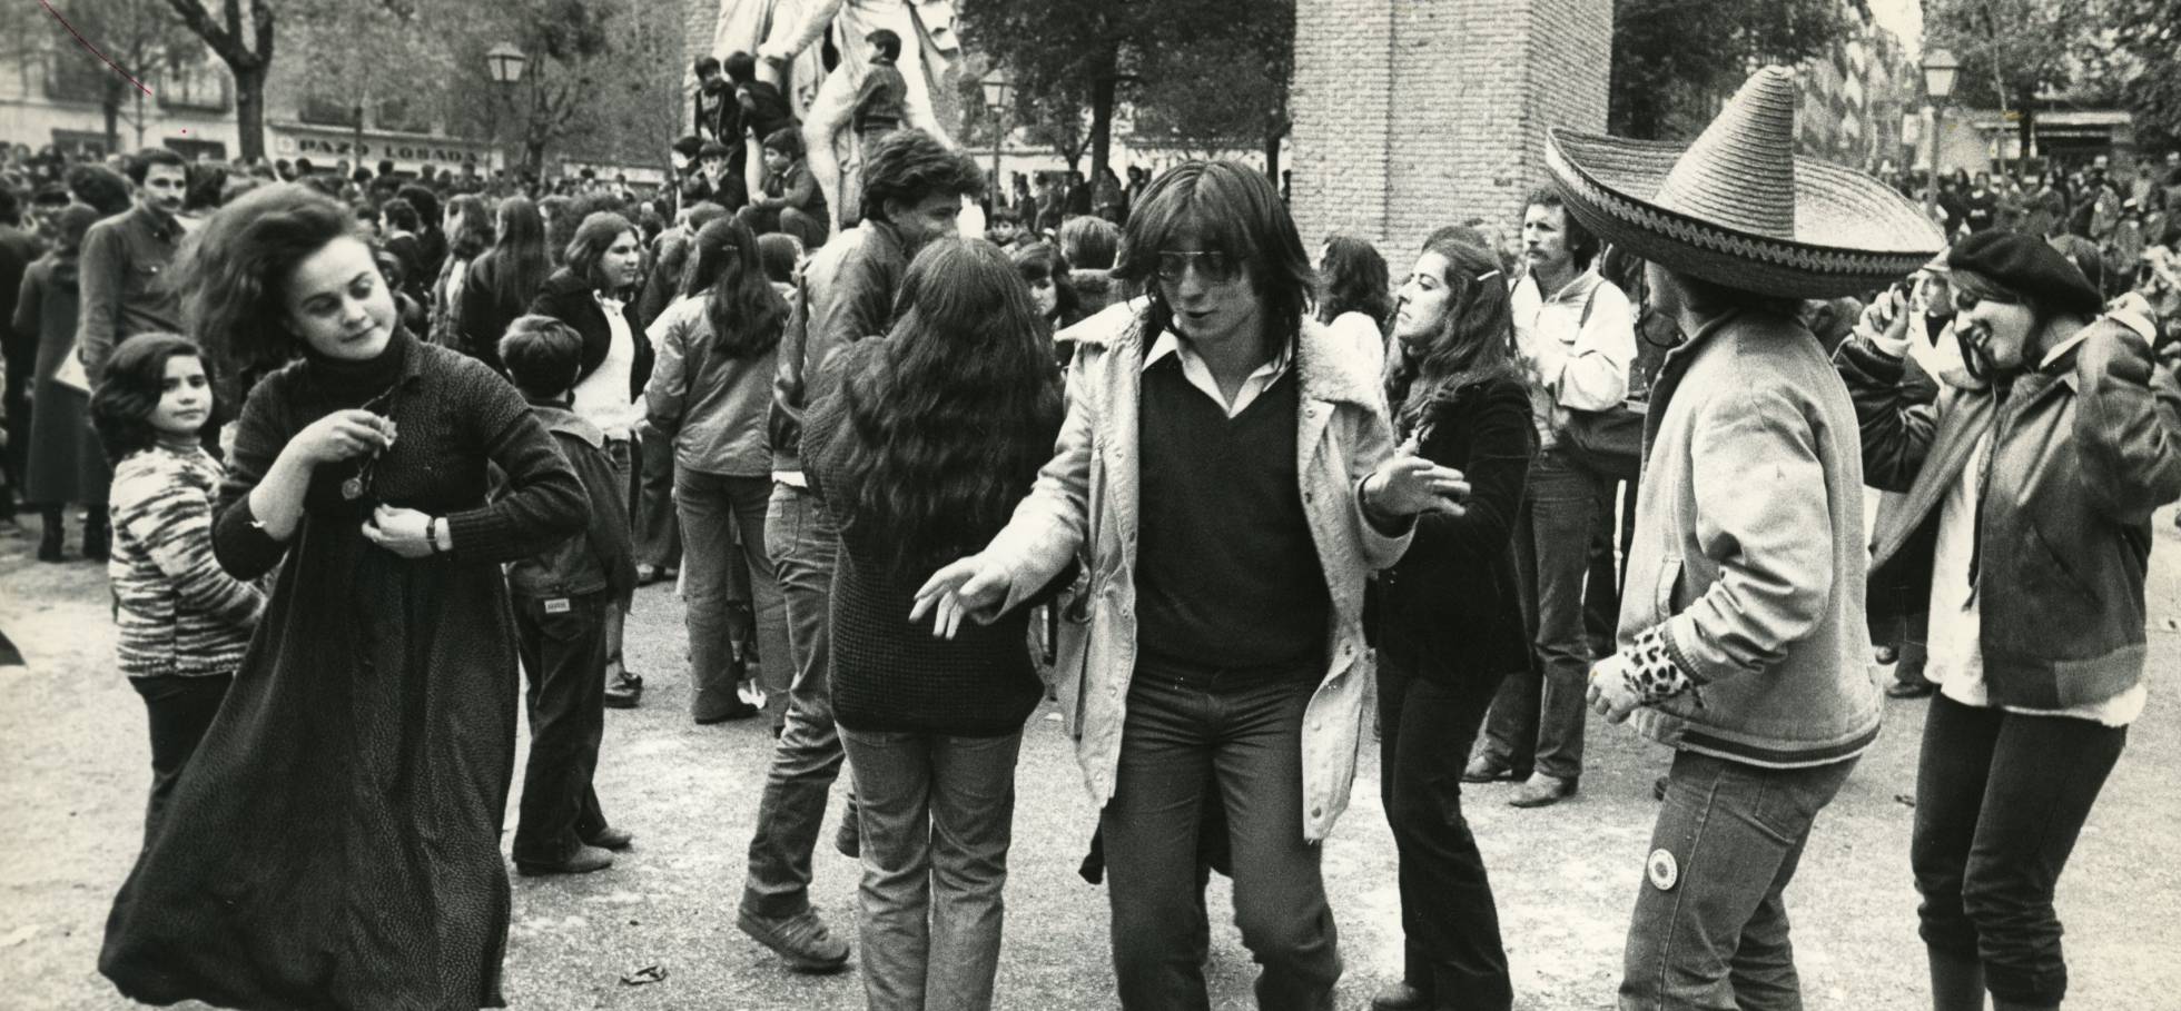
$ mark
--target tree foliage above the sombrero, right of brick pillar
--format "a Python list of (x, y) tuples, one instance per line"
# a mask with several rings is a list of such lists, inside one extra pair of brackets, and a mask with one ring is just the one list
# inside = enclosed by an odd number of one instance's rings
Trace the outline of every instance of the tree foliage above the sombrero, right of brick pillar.
[(1852, 26), (1841, 0), (1618, 0), (1607, 129), (1692, 137), (1754, 61), (1802, 63)]

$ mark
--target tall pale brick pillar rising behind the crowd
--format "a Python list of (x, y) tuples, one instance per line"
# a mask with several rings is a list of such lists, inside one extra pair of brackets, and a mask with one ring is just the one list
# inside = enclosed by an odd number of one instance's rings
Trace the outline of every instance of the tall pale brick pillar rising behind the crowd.
[(1289, 139), (1304, 244), (1396, 272), (1431, 229), (1514, 227), (1546, 126), (1605, 129), (1612, 0), (1298, 0)]

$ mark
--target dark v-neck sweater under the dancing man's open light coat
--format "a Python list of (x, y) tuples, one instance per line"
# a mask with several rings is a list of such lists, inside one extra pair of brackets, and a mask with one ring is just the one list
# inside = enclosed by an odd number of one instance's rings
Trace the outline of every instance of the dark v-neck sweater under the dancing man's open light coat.
[(1156, 662), (1289, 675), (1324, 660), (1333, 597), (1296, 479), (1298, 377), (1234, 418), (1143, 373), (1136, 641)]

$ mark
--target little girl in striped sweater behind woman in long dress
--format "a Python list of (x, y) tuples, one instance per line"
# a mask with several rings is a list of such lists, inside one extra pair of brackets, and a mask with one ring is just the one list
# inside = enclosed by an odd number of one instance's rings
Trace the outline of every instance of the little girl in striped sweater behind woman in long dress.
[(120, 667), (150, 712), (146, 839), (264, 612), (264, 593), (212, 558), (212, 497), (225, 468), (201, 442), (209, 416), (205, 364), (174, 333), (122, 342), (92, 397), (92, 423), (113, 462), (107, 580)]

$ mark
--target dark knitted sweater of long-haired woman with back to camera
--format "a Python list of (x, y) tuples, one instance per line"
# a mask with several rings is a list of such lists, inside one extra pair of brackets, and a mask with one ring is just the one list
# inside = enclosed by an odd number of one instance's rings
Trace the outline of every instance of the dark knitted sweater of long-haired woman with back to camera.
[[(883, 366), (879, 351), (877, 340), (855, 344), (842, 362), (844, 375)], [(892, 545), (857, 529), (855, 519), (846, 514), (855, 503), (855, 486), (842, 464), (855, 438), (840, 392), (820, 399), (805, 416), (803, 464), (811, 490), (842, 514), (831, 597), (833, 719), (851, 730), (881, 732), (949, 736), (1019, 732), (1045, 695), (1045, 684), (1029, 660), (1029, 606), (1067, 586), (1073, 567), (1029, 604), (990, 625), (964, 621), (955, 638), (933, 636), (929, 617), (909, 621), (916, 588), (931, 573), (894, 571)], [(1027, 492), (1036, 473), (1019, 477)]]

